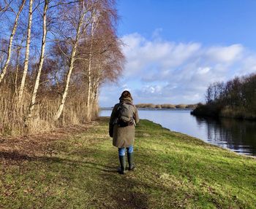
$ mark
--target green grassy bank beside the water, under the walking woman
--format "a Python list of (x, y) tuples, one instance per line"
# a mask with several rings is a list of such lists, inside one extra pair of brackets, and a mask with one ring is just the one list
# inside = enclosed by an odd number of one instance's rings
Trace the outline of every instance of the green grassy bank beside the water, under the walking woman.
[(255, 159), (142, 120), (136, 170), (121, 176), (111, 143), (101, 119), (51, 154), (0, 165), (0, 208), (256, 208)]

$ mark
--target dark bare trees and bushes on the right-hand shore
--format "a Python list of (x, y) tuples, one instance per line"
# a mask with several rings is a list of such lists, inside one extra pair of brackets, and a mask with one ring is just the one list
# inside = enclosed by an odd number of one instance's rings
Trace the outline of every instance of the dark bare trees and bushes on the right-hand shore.
[(192, 114), (256, 119), (256, 74), (210, 84), (206, 104), (199, 104)]

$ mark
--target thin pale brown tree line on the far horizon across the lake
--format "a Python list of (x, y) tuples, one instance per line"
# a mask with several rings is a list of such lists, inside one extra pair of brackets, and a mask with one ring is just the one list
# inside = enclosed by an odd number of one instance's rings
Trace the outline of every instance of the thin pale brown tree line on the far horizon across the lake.
[(145, 109), (195, 109), (197, 104), (153, 104), (153, 103), (138, 103), (136, 105), (137, 108), (145, 108)]

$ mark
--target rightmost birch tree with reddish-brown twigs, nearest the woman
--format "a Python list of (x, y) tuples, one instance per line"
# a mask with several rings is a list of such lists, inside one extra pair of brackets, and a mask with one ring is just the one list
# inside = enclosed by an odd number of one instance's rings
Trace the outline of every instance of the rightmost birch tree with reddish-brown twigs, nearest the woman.
[[(108, 2), (108, 1), (106, 1)], [(121, 42), (116, 37), (113, 20), (116, 11), (108, 4), (99, 9), (97, 18), (91, 23), (89, 45), (87, 119), (91, 120), (92, 107), (96, 106), (99, 86), (104, 81), (116, 81), (121, 72), (124, 55)], [(95, 26), (94, 26), (95, 25)]]

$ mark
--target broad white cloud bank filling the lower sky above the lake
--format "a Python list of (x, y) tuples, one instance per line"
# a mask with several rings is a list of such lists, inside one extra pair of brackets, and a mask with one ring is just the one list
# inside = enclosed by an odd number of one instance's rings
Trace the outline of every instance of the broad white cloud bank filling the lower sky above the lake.
[(241, 44), (204, 47), (169, 42), (160, 39), (159, 31), (151, 40), (138, 33), (122, 40), (127, 58), (124, 73), (118, 85), (102, 88), (109, 99), (100, 96), (101, 106), (115, 103), (124, 88), (132, 92), (135, 103), (197, 103), (204, 101), (211, 82), (256, 71), (255, 52)]

